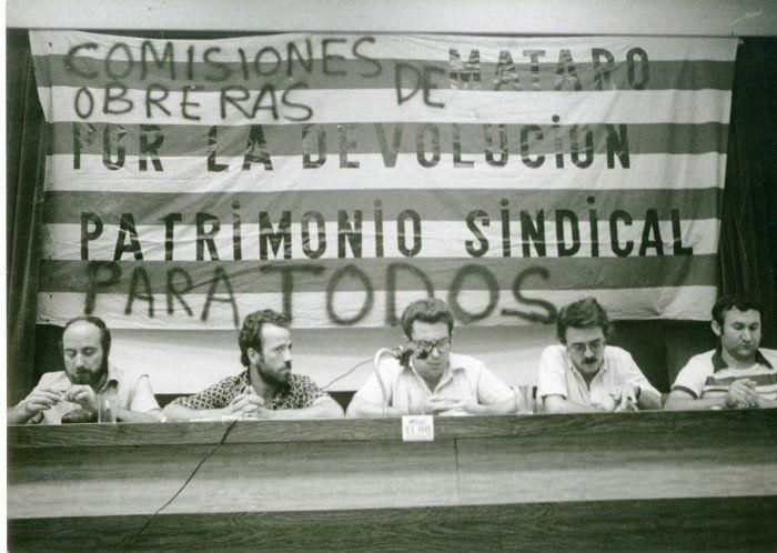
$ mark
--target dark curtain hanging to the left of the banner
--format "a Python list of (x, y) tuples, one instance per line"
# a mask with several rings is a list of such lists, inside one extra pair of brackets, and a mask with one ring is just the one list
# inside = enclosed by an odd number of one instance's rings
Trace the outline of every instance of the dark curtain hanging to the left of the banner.
[(6, 285), (8, 401), (34, 385), (36, 311), (48, 132), (27, 31), (8, 29), (6, 50)]

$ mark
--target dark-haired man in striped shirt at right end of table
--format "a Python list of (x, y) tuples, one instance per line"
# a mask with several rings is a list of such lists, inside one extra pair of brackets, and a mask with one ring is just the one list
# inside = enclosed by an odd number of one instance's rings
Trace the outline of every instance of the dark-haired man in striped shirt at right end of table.
[(667, 410), (777, 406), (777, 351), (759, 349), (760, 313), (746, 298), (720, 298), (713, 308), (715, 350), (695, 355), (677, 374)]

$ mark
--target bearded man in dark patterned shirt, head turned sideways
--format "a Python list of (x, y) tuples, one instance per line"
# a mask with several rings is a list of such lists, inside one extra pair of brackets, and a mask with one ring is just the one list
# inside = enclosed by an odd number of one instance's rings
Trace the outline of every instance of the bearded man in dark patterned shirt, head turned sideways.
[(246, 368), (164, 408), (171, 421), (238, 419), (332, 419), (343, 410), (307, 376), (292, 373), (289, 320), (270, 309), (251, 313), (238, 336)]

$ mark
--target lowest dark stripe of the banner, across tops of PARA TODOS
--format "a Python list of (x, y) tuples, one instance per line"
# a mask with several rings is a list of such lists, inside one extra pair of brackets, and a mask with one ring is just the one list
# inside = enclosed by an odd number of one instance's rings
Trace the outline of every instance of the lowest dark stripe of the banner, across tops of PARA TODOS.
[[(149, 263), (120, 262), (115, 269), (87, 261), (43, 261), (39, 291), (81, 292), (90, 288), (90, 272), (100, 293), (129, 293), (135, 267), (142, 267), (153, 293), (165, 293), (168, 279), (186, 293), (208, 293), (216, 267), (224, 271), (235, 293), (272, 293), (281, 290), (283, 272), (293, 275), (294, 292), (320, 292), (333, 279), (337, 290), (511, 290), (519, 279), (521, 290), (593, 290), (714, 285), (715, 255), (682, 255), (624, 259), (387, 259), (310, 260), (304, 262), (223, 261)], [(352, 269), (343, 270), (346, 265)], [(115, 273), (112, 271), (115, 270)], [(343, 270), (341, 276), (337, 271)], [(97, 272), (95, 272), (97, 271)], [(351, 273), (353, 271), (353, 273)], [(359, 276), (355, 276), (359, 274)], [(117, 276), (115, 282), (111, 282)], [(140, 276), (139, 276), (140, 278)], [(189, 280), (191, 279), (191, 281)], [(393, 280), (393, 284), (390, 281)], [(191, 282), (191, 283), (190, 283)], [(425, 284), (426, 282), (426, 284)], [(454, 282), (458, 282), (454, 285)], [(142, 282), (138, 290), (144, 293)]]

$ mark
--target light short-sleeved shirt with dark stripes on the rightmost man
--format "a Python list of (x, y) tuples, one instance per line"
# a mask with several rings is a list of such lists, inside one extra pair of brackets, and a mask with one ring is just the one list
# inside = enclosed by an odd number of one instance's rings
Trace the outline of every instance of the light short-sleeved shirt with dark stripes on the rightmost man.
[(777, 351), (761, 348), (755, 363), (747, 369), (733, 369), (724, 361), (720, 350), (699, 353), (690, 358), (672, 385), (694, 399), (713, 398), (728, 393), (730, 385), (739, 379), (756, 383), (756, 392), (767, 400), (777, 400)]

